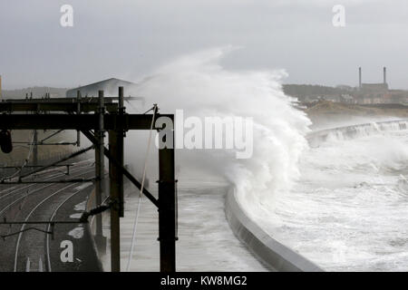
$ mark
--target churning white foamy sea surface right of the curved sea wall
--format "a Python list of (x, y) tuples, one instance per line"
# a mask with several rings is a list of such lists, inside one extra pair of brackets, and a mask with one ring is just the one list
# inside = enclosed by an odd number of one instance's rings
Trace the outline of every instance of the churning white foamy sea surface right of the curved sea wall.
[(302, 178), (258, 220), (328, 270), (408, 269), (408, 135), (378, 131), (307, 150)]

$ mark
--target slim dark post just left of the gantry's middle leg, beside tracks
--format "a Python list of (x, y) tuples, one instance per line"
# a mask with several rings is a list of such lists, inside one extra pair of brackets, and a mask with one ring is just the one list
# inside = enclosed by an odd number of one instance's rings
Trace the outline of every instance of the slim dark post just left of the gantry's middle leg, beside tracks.
[[(99, 124), (98, 130), (96, 131), (95, 137), (98, 141), (98, 144), (95, 146), (95, 176), (97, 179), (96, 182), (96, 207), (102, 205), (102, 196), (103, 196), (103, 188), (104, 188), (104, 132), (103, 132), (103, 114), (104, 114), (104, 103), (103, 103), (103, 91), (99, 91), (99, 110), (97, 113), (99, 114)], [(102, 215), (96, 216), (96, 237), (102, 237)]]

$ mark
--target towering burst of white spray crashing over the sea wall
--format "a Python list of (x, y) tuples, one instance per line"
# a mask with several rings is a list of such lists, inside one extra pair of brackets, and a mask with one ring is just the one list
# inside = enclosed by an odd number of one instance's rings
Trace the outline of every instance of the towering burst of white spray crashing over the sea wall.
[[(233, 48), (213, 48), (182, 56), (138, 82), (136, 92), (160, 111), (183, 110), (186, 117), (242, 117), (254, 121), (252, 157), (235, 150), (178, 150), (179, 179), (190, 168), (222, 176), (238, 189), (248, 213), (273, 207), (299, 176), (297, 161), (306, 149), (310, 121), (296, 99), (282, 91), (284, 71), (230, 71), (220, 65)], [(177, 126), (177, 124), (176, 124)]]

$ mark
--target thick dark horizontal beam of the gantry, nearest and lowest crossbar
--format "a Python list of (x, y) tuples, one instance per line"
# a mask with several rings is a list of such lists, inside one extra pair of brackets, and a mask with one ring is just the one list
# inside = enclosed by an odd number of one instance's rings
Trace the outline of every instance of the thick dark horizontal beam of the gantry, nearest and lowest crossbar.
[[(124, 131), (150, 130), (151, 114), (105, 114), (104, 129)], [(173, 114), (157, 114), (156, 118), (168, 117), (174, 120)], [(0, 114), (0, 127), (6, 130), (97, 130), (99, 125), (97, 114)], [(154, 130), (161, 128), (153, 128)]]

